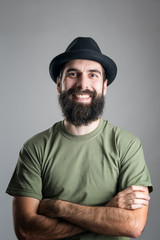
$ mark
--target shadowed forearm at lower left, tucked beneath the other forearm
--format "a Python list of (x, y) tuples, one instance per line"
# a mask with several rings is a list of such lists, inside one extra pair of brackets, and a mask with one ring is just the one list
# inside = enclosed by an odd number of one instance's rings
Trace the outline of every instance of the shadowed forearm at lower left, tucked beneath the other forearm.
[(19, 228), (17, 236), (19, 240), (53, 240), (71, 237), (83, 231), (66, 220), (35, 215), (29, 221), (25, 223), (23, 221), (23, 226)]

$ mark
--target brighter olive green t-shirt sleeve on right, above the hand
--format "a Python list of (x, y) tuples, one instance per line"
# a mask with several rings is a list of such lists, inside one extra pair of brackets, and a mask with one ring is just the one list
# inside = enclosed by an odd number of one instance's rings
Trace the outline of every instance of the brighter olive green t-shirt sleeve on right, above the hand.
[(144, 159), (141, 142), (134, 138), (120, 158), (119, 191), (131, 186), (146, 186), (153, 191), (150, 174)]

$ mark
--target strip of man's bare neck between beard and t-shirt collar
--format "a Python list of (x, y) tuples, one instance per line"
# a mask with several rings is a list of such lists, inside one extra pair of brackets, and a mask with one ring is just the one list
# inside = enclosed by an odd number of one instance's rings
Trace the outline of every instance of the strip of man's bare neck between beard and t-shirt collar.
[(88, 134), (90, 132), (92, 132), (93, 130), (95, 130), (100, 122), (100, 118), (98, 118), (98, 120), (91, 122), (89, 125), (85, 126), (75, 126), (73, 124), (71, 124), (70, 122), (66, 121), (66, 119), (64, 120), (64, 127), (66, 128), (66, 130), (74, 135), (85, 135)]

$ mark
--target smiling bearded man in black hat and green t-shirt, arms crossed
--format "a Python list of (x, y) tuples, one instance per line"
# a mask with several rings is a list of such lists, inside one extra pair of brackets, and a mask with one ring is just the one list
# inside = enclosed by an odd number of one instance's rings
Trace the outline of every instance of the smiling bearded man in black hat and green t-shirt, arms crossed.
[(152, 191), (141, 143), (101, 118), (116, 73), (91, 38), (76, 38), (51, 61), (64, 121), (20, 151), (7, 188), (19, 240), (141, 235)]

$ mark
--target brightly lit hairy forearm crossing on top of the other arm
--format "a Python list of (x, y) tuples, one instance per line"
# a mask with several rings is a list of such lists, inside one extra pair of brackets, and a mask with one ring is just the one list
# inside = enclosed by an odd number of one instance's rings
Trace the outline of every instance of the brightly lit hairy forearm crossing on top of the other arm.
[[(140, 228), (135, 211), (114, 207), (89, 207), (64, 201), (50, 200), (56, 214), (86, 231), (102, 235), (138, 237)], [(52, 211), (53, 212), (53, 211)], [(49, 214), (49, 212), (48, 212)]]

